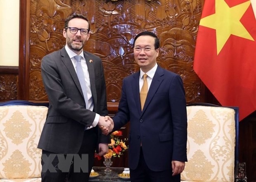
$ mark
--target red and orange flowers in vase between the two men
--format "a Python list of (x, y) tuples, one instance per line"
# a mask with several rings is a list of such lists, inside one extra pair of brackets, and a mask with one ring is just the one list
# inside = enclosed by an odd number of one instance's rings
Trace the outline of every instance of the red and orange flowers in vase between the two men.
[[(109, 144), (109, 151), (107, 154), (104, 155), (104, 158), (112, 158), (112, 157), (120, 157), (123, 155), (123, 152), (128, 149), (128, 146), (126, 146), (126, 141), (128, 139), (119, 139), (120, 136), (122, 136), (121, 131), (114, 131), (111, 133), (111, 143)], [(95, 157), (98, 158), (98, 160), (101, 159), (101, 157), (97, 154), (95, 154)]]

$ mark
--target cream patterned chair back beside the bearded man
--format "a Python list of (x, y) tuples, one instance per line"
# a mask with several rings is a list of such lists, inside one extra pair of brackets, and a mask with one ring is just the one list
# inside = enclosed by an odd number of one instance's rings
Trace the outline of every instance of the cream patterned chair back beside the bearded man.
[(0, 182), (40, 182), (46, 106), (0, 106)]

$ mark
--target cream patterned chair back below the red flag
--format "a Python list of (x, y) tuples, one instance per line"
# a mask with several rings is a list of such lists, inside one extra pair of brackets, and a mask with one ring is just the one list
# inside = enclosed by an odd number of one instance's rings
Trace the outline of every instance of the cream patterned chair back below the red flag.
[(187, 106), (187, 123), (188, 162), (181, 180), (234, 182), (238, 108)]

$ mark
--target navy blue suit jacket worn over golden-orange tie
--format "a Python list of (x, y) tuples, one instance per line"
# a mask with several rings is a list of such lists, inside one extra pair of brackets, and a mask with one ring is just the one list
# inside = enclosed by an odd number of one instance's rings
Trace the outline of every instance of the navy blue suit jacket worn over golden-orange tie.
[(140, 106), (140, 72), (123, 79), (114, 130), (130, 121), (129, 168), (137, 168), (142, 147), (152, 171), (171, 169), (171, 161), (187, 161), (185, 91), (178, 74), (157, 67), (143, 110)]

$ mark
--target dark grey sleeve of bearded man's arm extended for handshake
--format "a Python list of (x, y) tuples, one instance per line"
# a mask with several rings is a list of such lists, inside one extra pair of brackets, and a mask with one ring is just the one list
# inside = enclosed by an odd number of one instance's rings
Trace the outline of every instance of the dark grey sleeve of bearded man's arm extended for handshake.
[(56, 64), (57, 61), (55, 59), (57, 58), (52, 55), (47, 55), (43, 57), (41, 64), (43, 84), (50, 104), (55, 110), (55, 114), (70, 118), (90, 127), (95, 118), (95, 113), (85, 109), (83, 105), (78, 104), (78, 102), (74, 100), (75, 97), (67, 97), (65, 90), (69, 89), (68, 87), (71, 87), (71, 85), (64, 85), (62, 79), (72, 78), (63, 76), (64, 74), (68, 75), (68, 73), (63, 73), (63, 70), (59, 69), (59, 65)]

